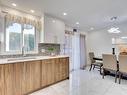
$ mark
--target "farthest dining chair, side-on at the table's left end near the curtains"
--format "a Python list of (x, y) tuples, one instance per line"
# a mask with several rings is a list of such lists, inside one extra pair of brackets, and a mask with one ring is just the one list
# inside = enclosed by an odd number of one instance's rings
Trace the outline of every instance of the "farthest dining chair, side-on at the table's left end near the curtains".
[(93, 70), (94, 70), (94, 68), (99, 68), (99, 70), (100, 70), (100, 74), (101, 74), (101, 68), (102, 68), (102, 62), (97, 62), (95, 59), (94, 59), (94, 52), (89, 52), (89, 57), (90, 57), (90, 63), (91, 63), (91, 65), (90, 65), (90, 69), (89, 69), (89, 71), (91, 71), (91, 69), (93, 68)]

